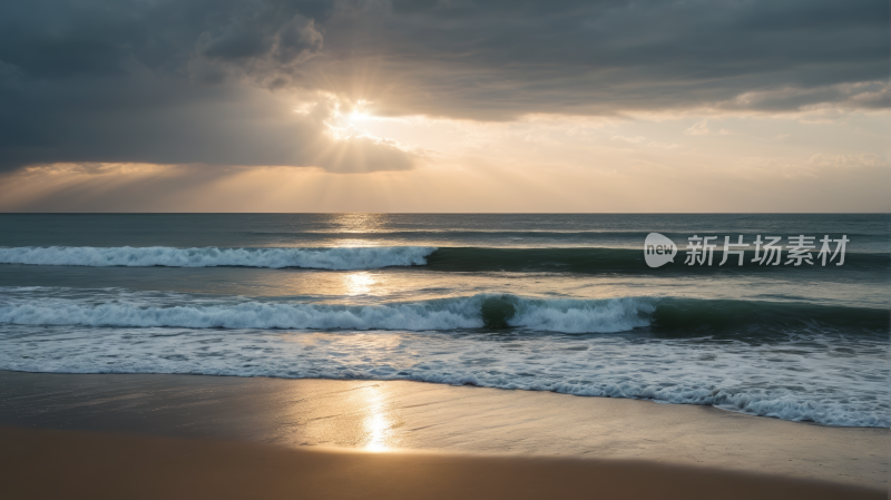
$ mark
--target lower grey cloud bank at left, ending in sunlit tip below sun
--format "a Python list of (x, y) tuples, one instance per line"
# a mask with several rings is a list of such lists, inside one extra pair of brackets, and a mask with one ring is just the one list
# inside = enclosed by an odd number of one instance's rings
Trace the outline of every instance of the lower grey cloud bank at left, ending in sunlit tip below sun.
[(55, 163), (320, 167), (404, 170), (418, 155), (378, 138), (343, 137), (329, 122), (334, 98), (312, 112), (265, 90), (188, 82), (78, 79), (55, 95), (22, 89), (0, 110), (0, 169)]

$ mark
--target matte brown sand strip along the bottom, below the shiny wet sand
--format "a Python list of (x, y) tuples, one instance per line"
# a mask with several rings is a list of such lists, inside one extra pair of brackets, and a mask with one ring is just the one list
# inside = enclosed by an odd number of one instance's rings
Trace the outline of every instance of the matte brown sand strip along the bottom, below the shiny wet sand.
[(300, 450), (0, 428), (14, 499), (880, 499), (881, 490), (639, 461)]

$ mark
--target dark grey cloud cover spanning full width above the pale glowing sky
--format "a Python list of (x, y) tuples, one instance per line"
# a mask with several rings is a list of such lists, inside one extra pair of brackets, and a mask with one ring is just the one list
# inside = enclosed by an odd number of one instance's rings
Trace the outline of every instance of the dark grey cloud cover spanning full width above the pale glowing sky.
[(528, 112), (889, 107), (885, 1), (32, 0), (0, 4), (0, 169), (55, 161), (411, 168), (330, 104)]

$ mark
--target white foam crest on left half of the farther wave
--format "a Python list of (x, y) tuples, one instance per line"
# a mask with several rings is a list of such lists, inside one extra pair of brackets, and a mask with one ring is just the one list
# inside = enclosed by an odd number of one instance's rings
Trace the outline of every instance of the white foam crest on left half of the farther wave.
[(172, 248), (51, 246), (0, 248), (0, 264), (56, 266), (168, 266), (168, 267), (306, 267), (316, 269), (372, 269), (424, 265), (435, 248), (379, 246), (354, 248)]

